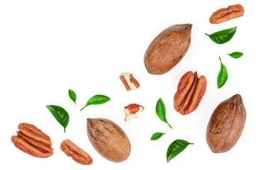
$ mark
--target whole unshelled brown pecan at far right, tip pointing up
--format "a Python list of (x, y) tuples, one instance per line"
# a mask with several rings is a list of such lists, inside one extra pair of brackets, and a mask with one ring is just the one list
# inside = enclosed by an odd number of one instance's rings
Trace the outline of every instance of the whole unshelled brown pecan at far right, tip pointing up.
[(246, 111), (239, 94), (221, 102), (213, 111), (206, 141), (214, 153), (228, 152), (238, 142), (245, 126)]

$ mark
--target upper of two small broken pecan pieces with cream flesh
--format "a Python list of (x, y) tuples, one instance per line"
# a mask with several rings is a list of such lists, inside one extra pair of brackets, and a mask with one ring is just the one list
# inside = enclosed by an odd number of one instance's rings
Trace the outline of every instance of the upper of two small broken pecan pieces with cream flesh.
[(119, 76), (119, 78), (121, 79), (127, 91), (137, 90), (140, 87), (139, 82), (136, 79), (134, 79), (132, 73), (123, 73)]

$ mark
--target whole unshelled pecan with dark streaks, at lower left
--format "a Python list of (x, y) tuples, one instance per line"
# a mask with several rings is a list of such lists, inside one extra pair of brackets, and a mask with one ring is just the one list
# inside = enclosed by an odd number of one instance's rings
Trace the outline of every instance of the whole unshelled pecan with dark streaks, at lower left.
[(127, 135), (111, 120), (88, 118), (87, 135), (97, 152), (111, 162), (123, 162), (131, 153), (131, 144)]

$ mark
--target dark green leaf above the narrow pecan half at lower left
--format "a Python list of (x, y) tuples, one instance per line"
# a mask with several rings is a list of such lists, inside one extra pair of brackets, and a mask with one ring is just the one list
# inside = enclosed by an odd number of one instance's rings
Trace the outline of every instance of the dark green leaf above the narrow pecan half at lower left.
[(55, 105), (48, 105), (46, 106), (46, 108), (49, 109), (50, 113), (53, 114), (54, 118), (58, 121), (58, 123), (63, 126), (65, 132), (65, 128), (67, 128), (69, 121), (68, 112), (65, 111), (64, 108)]

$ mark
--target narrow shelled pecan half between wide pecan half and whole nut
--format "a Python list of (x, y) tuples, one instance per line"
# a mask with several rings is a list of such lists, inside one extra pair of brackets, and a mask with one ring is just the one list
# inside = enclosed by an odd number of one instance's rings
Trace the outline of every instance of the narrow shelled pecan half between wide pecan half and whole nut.
[(92, 158), (90, 155), (80, 149), (80, 147), (75, 145), (70, 140), (64, 140), (60, 145), (60, 149), (65, 152), (68, 157), (72, 157), (74, 161), (78, 162), (79, 164), (92, 164)]

